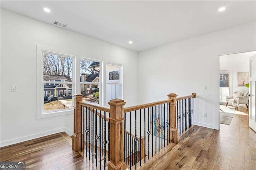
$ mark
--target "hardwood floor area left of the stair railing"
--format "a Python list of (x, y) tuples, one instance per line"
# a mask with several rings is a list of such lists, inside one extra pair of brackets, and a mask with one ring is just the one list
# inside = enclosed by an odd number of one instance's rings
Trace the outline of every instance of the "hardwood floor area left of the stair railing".
[(72, 150), (72, 139), (65, 132), (0, 148), (0, 161), (26, 161), (26, 169), (95, 168)]

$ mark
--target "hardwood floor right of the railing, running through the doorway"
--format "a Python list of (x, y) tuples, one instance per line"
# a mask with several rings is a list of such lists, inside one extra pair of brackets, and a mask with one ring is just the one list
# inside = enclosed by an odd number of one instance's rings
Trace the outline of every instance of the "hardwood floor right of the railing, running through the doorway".
[(248, 127), (248, 112), (239, 107), (230, 125), (220, 124), (220, 130), (195, 126), (155, 165), (151, 169), (255, 170), (256, 133)]

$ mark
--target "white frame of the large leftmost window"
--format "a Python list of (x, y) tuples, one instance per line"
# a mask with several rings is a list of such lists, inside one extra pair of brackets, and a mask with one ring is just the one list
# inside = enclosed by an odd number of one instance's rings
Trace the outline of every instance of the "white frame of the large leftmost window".
[[(50, 54), (56, 54), (56, 55), (62, 55), (62, 56), (67, 56), (67, 57), (72, 57), (73, 58), (73, 71), (72, 71), (72, 81), (68, 82), (65, 81), (65, 84), (72, 84), (72, 94), (74, 94), (75, 90), (75, 85), (74, 82), (76, 81), (75, 75), (76, 75), (76, 56), (71, 55), (70, 51), (67, 51), (66, 49), (56, 49), (52, 47), (46, 47), (42, 45), (37, 45), (36, 46), (36, 63), (37, 63), (37, 111), (36, 111), (36, 119), (43, 119), (47, 117), (56, 117), (56, 116), (61, 116), (61, 115), (68, 115), (68, 114), (73, 114), (73, 108), (69, 109), (58, 109), (54, 111), (43, 111), (43, 106), (44, 106), (44, 97), (42, 96), (42, 91), (44, 91), (44, 84), (47, 83), (43, 79), (43, 68), (42, 68), (42, 54), (43, 53), (50, 53)], [(50, 80), (49, 80), (50, 81)], [(54, 81), (56, 84), (56, 81)], [(73, 102), (73, 101), (72, 101)]]

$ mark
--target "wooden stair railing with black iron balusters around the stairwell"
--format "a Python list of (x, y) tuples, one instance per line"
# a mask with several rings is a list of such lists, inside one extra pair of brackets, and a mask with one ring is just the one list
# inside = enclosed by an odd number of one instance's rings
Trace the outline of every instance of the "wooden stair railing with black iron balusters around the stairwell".
[[(72, 148), (75, 151), (84, 150), (85, 143), (82, 141), (84, 138), (83, 134), (85, 131), (82, 130), (86, 125), (82, 119), (84, 118), (85, 107), (86, 115), (87, 111), (95, 115), (96, 120), (104, 120), (105, 123), (102, 125), (108, 125), (108, 141), (106, 139), (106, 129), (103, 136), (95, 135), (95, 140), (100, 140), (104, 138), (105, 150), (106, 142), (109, 143), (108, 154), (109, 162), (108, 169), (110, 170), (124, 170), (127, 167), (127, 161), (130, 161), (130, 158), (135, 157), (135, 169), (136, 166), (141, 166), (145, 164), (153, 156), (157, 156), (158, 153), (161, 153), (164, 148), (174, 146), (178, 143), (178, 130), (177, 130), (177, 117), (178, 112), (180, 111), (178, 105), (179, 101), (195, 98), (196, 94), (192, 93), (190, 96), (179, 97), (174, 93), (168, 94), (168, 100), (158, 101), (154, 103), (148, 103), (144, 105), (137, 105), (133, 107), (124, 108), (125, 102), (122, 99), (113, 99), (108, 102), (110, 107), (104, 107), (97, 105), (95, 103), (83, 102), (83, 95), (74, 95), (74, 134), (72, 136)], [(178, 105), (177, 105), (178, 104)], [(83, 108), (82, 108), (83, 107)], [(186, 107), (186, 105), (185, 105)], [(104, 112), (104, 115), (102, 114)], [(109, 117), (106, 117), (106, 113), (109, 114)], [(178, 115), (179, 116), (179, 115)], [(92, 116), (94, 117), (94, 116)], [(151, 118), (150, 118), (151, 117)], [(126, 121), (127, 119), (127, 121)], [(95, 121), (95, 120), (94, 120)], [(130, 121), (130, 122), (128, 122)], [(93, 119), (91, 121), (93, 122)], [(107, 122), (107, 123), (106, 123)], [(144, 126), (142, 124), (144, 123)], [(100, 121), (96, 121), (96, 125), (92, 127), (97, 127), (100, 129), (102, 127)], [(129, 127), (128, 127), (129, 126)], [(104, 128), (104, 127), (103, 127)], [(179, 127), (180, 128), (180, 127)], [(86, 129), (87, 130), (87, 129)], [(100, 130), (99, 130), (100, 132)], [(133, 134), (131, 134), (131, 132)], [(99, 147), (94, 146), (94, 131), (92, 131), (92, 144), (89, 142), (89, 146), (94, 148), (97, 152), (100, 152)], [(126, 135), (130, 136), (128, 138), (133, 138), (129, 140), (125, 138)], [(167, 134), (167, 136), (166, 136)], [(88, 135), (88, 134), (87, 134)], [(144, 137), (145, 135), (145, 137)], [(161, 140), (160, 140), (161, 138)], [(146, 140), (147, 139), (147, 140)], [(102, 139), (101, 139), (102, 140)], [(124, 147), (124, 143), (128, 140), (128, 146)], [(139, 142), (138, 142), (139, 141)], [(161, 142), (161, 144), (160, 144)], [(147, 145), (147, 146), (146, 146)], [(157, 146), (158, 145), (158, 146)], [(168, 146), (169, 147), (168, 147)], [(131, 148), (134, 146), (133, 150)], [(147, 149), (147, 150), (146, 150)], [(93, 149), (92, 149), (93, 150)], [(138, 152), (139, 151), (139, 152)], [(147, 151), (147, 153), (146, 153)], [(150, 151), (152, 151), (150, 153)], [(128, 155), (126, 155), (128, 153)], [(102, 155), (101, 155), (102, 156)], [(130, 157), (129, 157), (130, 156)], [(104, 158), (106, 160), (106, 156)], [(146, 161), (147, 159), (147, 161)], [(93, 159), (92, 159), (93, 160)], [(102, 160), (102, 158), (100, 158)], [(97, 165), (97, 164), (96, 164)], [(130, 169), (132, 168), (130, 164)]]

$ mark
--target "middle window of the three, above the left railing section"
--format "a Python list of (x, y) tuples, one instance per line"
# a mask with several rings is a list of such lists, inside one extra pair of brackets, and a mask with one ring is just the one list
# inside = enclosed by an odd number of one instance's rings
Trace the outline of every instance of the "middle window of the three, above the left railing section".
[(103, 104), (100, 100), (101, 65), (101, 61), (80, 59), (80, 94), (84, 95), (83, 100)]

